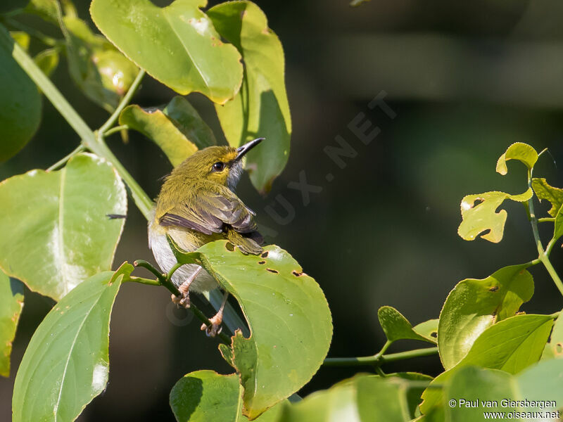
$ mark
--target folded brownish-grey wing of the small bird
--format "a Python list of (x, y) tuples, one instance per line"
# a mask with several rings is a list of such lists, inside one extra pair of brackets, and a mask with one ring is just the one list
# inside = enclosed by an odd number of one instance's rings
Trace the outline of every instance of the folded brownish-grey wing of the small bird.
[(201, 188), (190, 201), (178, 203), (160, 217), (163, 226), (182, 226), (203, 234), (220, 233), (228, 224), (239, 233), (256, 231), (255, 213), (229, 188), (213, 186), (213, 191)]

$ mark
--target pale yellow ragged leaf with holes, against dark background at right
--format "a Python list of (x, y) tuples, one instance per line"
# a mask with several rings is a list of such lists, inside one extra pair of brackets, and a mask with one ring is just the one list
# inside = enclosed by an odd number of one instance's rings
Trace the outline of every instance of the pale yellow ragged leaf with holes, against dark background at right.
[(524, 202), (532, 195), (531, 188), (528, 188), (526, 192), (519, 195), (493, 191), (464, 196), (461, 204), (463, 221), (457, 229), (457, 234), (465, 241), (474, 241), (479, 234), (487, 231), (486, 234), (481, 235), (481, 238), (493, 243), (502, 241), (507, 212), (506, 210), (496, 212), (497, 208), (505, 199)]

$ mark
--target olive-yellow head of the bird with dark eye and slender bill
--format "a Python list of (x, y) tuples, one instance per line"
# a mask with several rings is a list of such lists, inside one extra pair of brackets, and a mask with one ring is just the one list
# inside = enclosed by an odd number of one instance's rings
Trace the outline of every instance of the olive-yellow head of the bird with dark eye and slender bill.
[(184, 160), (170, 176), (207, 179), (223, 186), (234, 188), (241, 178), (243, 158), (248, 151), (264, 138), (254, 139), (239, 148), (232, 146), (209, 146)]

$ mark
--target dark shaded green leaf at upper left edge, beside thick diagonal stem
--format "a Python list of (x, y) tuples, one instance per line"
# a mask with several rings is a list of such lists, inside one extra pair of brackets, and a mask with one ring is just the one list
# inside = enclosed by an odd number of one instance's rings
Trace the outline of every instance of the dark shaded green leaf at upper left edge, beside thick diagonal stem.
[[(1, 31), (6, 32), (4, 28)], [(0, 162), (13, 157), (39, 127), (41, 96), (30, 77), (12, 58), (13, 41), (0, 37)]]

